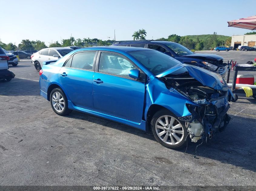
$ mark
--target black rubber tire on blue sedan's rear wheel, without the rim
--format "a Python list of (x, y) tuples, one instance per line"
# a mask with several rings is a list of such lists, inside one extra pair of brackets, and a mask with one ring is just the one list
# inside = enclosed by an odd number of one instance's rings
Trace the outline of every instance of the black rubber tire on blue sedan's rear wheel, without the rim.
[[(61, 94), (63, 100), (64, 100), (64, 107), (63, 107), (63, 110), (62, 111), (57, 111), (54, 107), (53, 107), (53, 101), (52, 101), (52, 98), (53, 98), (53, 94), (55, 94), (56, 92), (58, 92), (59, 94)], [(52, 107), (52, 110), (57, 113), (58, 115), (60, 116), (65, 116), (65, 115), (68, 115), (69, 113), (71, 113), (72, 110), (68, 109), (68, 99), (65, 95), (65, 93), (62, 91), (62, 89), (60, 88), (55, 88), (52, 90), (51, 94), (50, 94), (50, 104), (51, 104), (51, 107)]]

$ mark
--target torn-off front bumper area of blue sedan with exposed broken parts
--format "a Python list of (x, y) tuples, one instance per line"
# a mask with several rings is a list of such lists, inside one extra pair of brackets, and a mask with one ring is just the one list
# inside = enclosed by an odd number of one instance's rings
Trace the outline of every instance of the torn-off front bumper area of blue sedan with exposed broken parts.
[(187, 104), (192, 115), (179, 119), (185, 121), (192, 142), (197, 142), (202, 137), (207, 141), (216, 132), (222, 132), (227, 127), (230, 121), (227, 114), (230, 108), (228, 101), (231, 99), (231, 94), (227, 92), (226, 96), (218, 100), (197, 100), (195, 103), (198, 106)]

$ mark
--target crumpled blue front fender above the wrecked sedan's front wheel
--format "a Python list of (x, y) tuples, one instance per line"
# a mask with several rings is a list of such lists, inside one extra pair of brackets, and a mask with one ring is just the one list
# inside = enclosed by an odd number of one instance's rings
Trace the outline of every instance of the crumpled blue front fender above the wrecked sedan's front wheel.
[(168, 90), (163, 81), (154, 77), (150, 78), (149, 83), (146, 84), (145, 96), (145, 119), (147, 119), (148, 109), (152, 104), (165, 107), (178, 117), (191, 115), (186, 103), (198, 106), (198, 104), (181, 95), (177, 90)]

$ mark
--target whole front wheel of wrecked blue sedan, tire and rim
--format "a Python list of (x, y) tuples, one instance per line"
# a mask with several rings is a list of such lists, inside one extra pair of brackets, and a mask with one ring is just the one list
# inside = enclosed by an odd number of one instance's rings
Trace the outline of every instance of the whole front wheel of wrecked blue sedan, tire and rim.
[(183, 121), (169, 110), (159, 110), (151, 120), (151, 130), (157, 142), (161, 145), (171, 148), (180, 149), (187, 142), (187, 129)]

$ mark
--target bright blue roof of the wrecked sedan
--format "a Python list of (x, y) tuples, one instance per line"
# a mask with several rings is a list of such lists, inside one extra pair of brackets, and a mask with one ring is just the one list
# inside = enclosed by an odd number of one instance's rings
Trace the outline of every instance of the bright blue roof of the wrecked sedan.
[(83, 50), (105, 50), (105, 51), (116, 51), (116, 52), (131, 52), (131, 51), (138, 51), (138, 50), (151, 50), (147, 48), (140, 48), (140, 47), (127, 47), (127, 46), (94, 46), (88, 48), (80, 48), (74, 50), (75, 52), (83, 51)]

